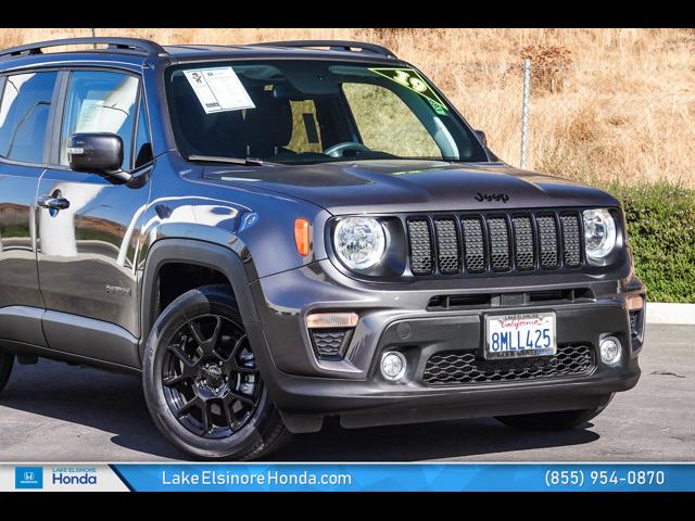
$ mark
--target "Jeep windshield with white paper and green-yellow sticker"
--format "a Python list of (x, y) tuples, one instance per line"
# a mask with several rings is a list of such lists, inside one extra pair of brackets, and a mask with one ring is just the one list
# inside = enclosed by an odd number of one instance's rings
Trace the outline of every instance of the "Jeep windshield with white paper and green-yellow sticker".
[(451, 105), (408, 67), (195, 63), (169, 68), (166, 84), (176, 143), (188, 158), (488, 161)]

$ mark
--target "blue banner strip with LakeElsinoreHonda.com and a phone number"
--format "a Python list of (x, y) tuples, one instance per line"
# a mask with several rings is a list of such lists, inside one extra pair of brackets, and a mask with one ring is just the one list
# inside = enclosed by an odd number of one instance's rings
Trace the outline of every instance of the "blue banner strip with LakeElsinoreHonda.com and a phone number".
[(112, 465), (148, 492), (695, 492), (694, 463)]

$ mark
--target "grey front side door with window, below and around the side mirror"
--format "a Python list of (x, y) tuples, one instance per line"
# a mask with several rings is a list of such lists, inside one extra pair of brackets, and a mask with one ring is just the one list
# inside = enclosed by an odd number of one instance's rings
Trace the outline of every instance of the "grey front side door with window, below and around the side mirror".
[[(126, 346), (139, 334), (132, 263), (153, 164), (141, 78), (116, 69), (66, 74), (51, 167), (38, 189), (39, 198), (70, 203), (38, 211), (38, 271), (48, 309), (43, 330), (53, 350), (134, 365), (136, 353)], [(73, 171), (66, 147), (77, 132), (118, 135), (122, 168), (141, 182), (112, 185), (97, 174)]]

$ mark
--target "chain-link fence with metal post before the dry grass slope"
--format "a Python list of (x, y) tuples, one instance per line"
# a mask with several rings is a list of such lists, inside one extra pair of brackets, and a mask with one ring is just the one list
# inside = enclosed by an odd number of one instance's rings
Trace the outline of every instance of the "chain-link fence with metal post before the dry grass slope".
[(422, 64), (505, 162), (585, 181), (670, 180), (695, 188), (693, 67)]

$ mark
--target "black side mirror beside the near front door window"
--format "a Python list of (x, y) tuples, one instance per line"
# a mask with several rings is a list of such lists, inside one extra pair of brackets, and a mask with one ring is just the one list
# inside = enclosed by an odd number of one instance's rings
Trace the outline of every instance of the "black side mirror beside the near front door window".
[(67, 161), (75, 171), (98, 174), (114, 185), (130, 180), (121, 169), (123, 140), (110, 132), (73, 134), (67, 145)]

